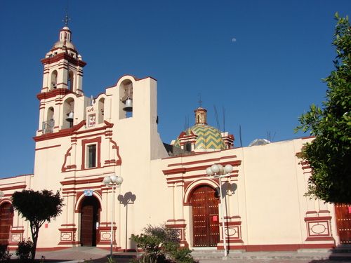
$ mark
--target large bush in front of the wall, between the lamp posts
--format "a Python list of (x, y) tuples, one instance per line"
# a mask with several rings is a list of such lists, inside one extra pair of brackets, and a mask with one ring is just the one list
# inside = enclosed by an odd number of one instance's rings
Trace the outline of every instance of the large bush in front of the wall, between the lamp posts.
[(143, 263), (193, 263), (197, 262), (190, 254), (192, 250), (180, 248), (180, 239), (177, 229), (167, 228), (164, 224), (145, 227), (143, 234), (132, 235), (138, 248), (144, 254), (137, 262)]

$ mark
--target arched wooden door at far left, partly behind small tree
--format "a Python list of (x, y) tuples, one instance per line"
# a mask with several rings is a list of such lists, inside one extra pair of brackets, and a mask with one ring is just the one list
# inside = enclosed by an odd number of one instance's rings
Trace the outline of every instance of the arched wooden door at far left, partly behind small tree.
[(13, 208), (11, 203), (0, 206), (0, 245), (8, 245), (10, 229), (13, 224)]

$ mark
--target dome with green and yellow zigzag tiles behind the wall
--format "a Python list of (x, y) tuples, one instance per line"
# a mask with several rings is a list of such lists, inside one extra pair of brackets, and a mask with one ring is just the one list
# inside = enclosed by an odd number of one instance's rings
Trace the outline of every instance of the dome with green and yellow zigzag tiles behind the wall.
[(199, 107), (195, 109), (195, 125), (180, 133), (174, 142), (175, 147), (182, 147), (182, 144), (192, 144), (192, 150), (225, 149), (220, 130), (209, 126), (206, 120), (206, 109)]

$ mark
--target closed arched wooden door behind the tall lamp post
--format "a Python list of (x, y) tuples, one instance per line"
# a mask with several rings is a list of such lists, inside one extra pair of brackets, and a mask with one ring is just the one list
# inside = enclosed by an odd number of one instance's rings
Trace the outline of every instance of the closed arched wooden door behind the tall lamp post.
[(194, 247), (216, 247), (220, 241), (218, 192), (207, 185), (195, 189), (192, 204), (192, 233)]

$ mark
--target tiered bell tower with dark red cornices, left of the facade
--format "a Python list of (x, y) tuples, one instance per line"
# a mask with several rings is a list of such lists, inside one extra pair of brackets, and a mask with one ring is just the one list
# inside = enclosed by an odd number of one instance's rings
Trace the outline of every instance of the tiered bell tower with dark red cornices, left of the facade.
[(41, 134), (72, 127), (74, 101), (84, 95), (82, 81), (86, 62), (72, 43), (68, 20), (66, 15), (58, 41), (41, 60), (44, 65), (43, 86), (37, 95), (40, 100), (38, 133)]

